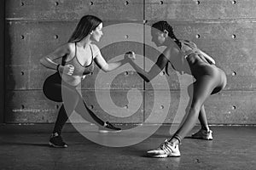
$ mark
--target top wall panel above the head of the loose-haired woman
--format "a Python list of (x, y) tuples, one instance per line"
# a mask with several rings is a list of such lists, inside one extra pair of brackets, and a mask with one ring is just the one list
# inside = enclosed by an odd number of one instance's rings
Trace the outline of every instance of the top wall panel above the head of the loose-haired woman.
[(79, 20), (94, 14), (103, 20), (143, 20), (142, 0), (8, 0), (10, 20)]

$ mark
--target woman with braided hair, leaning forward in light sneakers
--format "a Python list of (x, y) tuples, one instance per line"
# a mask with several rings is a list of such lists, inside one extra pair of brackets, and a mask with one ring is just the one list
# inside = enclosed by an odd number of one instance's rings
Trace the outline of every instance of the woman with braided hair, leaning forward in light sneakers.
[(125, 59), (146, 82), (156, 77), (165, 67), (168, 74), (168, 63), (171, 63), (176, 71), (188, 73), (195, 77), (195, 82), (189, 86), (189, 88), (193, 88), (193, 94), (189, 94), (191, 95), (191, 105), (177, 132), (160, 144), (157, 149), (147, 152), (148, 156), (152, 157), (180, 156), (178, 145), (195, 126), (197, 119), (201, 123), (201, 129), (192, 134), (192, 138), (212, 139), (212, 131), (207, 124), (204, 102), (211, 94), (216, 94), (224, 89), (227, 82), (226, 75), (215, 65), (215, 61), (210, 56), (196, 47), (195, 43), (177, 39), (173, 34), (172, 26), (166, 21), (154, 23), (151, 36), (152, 42), (157, 47), (164, 46), (166, 49), (160, 54), (150, 71), (144, 71), (136, 65), (133, 62), (135, 59), (133, 54), (125, 54)]

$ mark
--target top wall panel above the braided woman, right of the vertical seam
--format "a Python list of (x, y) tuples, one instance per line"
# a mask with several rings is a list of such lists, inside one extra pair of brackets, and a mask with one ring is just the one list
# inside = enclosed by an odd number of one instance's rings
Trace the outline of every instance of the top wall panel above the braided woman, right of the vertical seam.
[(255, 17), (253, 0), (145, 0), (145, 18), (152, 19), (250, 19)]

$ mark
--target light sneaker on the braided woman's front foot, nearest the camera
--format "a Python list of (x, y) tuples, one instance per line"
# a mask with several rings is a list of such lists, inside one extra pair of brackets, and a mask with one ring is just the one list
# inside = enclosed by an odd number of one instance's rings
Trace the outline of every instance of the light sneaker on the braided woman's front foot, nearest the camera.
[(178, 144), (172, 144), (168, 142), (168, 139), (155, 150), (148, 150), (147, 155), (151, 157), (178, 157), (180, 156), (180, 151), (178, 150)]

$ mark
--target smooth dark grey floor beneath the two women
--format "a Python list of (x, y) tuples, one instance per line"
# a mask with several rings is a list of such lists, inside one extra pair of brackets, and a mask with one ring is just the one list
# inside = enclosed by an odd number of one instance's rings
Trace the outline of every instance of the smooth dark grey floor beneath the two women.
[(256, 127), (211, 127), (212, 141), (183, 139), (181, 157), (145, 156), (146, 150), (166, 139), (169, 128), (160, 127), (139, 144), (107, 147), (85, 139), (67, 124), (62, 136), (69, 146), (55, 149), (48, 146), (52, 125), (1, 125), (0, 169), (256, 169)]

